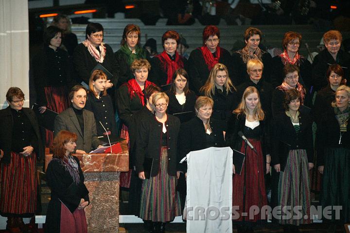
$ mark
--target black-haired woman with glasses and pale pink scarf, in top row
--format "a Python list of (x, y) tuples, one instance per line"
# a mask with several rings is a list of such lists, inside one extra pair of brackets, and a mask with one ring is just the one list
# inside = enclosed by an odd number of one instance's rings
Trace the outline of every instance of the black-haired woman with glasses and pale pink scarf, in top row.
[(100, 23), (88, 23), (86, 40), (79, 44), (73, 54), (73, 65), (76, 81), (85, 82), (88, 86), (90, 74), (97, 64), (101, 64), (113, 77), (108, 77), (106, 90), (114, 97), (114, 88), (119, 79), (119, 65), (114, 57), (112, 48), (103, 42), (104, 28)]

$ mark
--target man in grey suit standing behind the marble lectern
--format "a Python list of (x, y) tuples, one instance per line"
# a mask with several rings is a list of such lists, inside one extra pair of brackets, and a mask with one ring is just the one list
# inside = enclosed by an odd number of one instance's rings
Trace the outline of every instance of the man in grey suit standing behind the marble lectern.
[(84, 109), (87, 100), (87, 90), (81, 85), (72, 87), (69, 93), (72, 103), (70, 108), (56, 116), (54, 121), (55, 136), (61, 130), (68, 130), (78, 135), (74, 154), (87, 154), (91, 149), (101, 147), (97, 138), (94, 114)]

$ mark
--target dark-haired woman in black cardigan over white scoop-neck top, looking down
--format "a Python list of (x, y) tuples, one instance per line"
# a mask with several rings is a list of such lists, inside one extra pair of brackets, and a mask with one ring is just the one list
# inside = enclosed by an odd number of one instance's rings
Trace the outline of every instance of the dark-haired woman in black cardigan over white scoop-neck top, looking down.
[[(178, 69), (174, 72), (173, 84), (170, 90), (166, 91), (166, 94), (169, 96), (169, 106), (167, 108), (169, 114), (181, 112), (194, 113), (196, 96), (194, 92), (189, 89), (189, 77), (184, 69)], [(192, 114), (184, 115), (184, 117), (179, 116), (181, 123), (191, 118)]]

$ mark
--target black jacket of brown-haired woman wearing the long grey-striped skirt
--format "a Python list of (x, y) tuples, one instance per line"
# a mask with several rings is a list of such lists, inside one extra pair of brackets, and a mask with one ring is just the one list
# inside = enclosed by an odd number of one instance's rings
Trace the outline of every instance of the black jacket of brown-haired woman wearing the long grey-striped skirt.
[(299, 126), (300, 131), (297, 134), (292, 121), (285, 113), (281, 113), (273, 119), (273, 133), (271, 137), (271, 164), (280, 164), (281, 171), (284, 171), (290, 150), (305, 149), (308, 162), (314, 162), (314, 144), (311, 117), (300, 112)]

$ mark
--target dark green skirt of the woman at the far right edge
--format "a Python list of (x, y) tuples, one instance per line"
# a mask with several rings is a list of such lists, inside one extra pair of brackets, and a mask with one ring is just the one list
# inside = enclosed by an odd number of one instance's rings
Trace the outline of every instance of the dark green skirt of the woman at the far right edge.
[(321, 189), (322, 209), (326, 206), (342, 206), (340, 219), (335, 219), (332, 211), (332, 220), (350, 222), (350, 149), (326, 148), (324, 170)]

